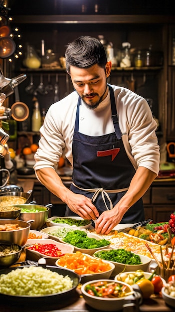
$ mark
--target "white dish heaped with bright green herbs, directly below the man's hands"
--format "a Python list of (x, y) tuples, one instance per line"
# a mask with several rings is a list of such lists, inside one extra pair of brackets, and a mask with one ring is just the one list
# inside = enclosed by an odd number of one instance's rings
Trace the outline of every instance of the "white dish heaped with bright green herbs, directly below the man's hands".
[(98, 250), (110, 247), (108, 240), (79, 229), (69, 231), (64, 238), (60, 239), (60, 242), (73, 246), (74, 251), (81, 251), (91, 256)]

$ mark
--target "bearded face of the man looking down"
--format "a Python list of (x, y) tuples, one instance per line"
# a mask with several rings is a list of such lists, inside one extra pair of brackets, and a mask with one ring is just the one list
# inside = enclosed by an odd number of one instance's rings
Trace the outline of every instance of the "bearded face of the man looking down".
[(88, 108), (97, 108), (100, 102), (106, 98), (108, 94), (106, 79), (110, 75), (110, 71), (110, 62), (106, 64), (106, 72), (97, 64), (89, 68), (70, 66), (73, 86)]

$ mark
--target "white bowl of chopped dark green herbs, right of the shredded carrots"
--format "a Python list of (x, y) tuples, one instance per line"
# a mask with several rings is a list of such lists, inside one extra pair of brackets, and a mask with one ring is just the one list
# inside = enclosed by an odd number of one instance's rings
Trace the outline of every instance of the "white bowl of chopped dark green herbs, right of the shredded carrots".
[(130, 272), (136, 270), (147, 271), (151, 258), (135, 254), (125, 249), (102, 249), (93, 254), (93, 257), (112, 262), (115, 265), (113, 275), (120, 272)]

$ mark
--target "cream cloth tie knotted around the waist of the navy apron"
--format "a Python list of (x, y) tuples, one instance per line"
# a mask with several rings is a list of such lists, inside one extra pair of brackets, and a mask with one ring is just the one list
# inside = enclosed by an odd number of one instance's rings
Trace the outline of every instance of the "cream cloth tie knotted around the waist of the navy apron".
[(111, 201), (111, 198), (109, 197), (108, 193), (120, 193), (120, 192), (123, 192), (123, 191), (127, 191), (129, 187), (125, 187), (125, 188), (121, 188), (121, 189), (103, 189), (103, 187), (101, 188), (82, 188), (82, 187), (79, 187), (77, 186), (74, 182), (72, 182), (72, 184), (83, 190), (83, 191), (88, 191), (88, 192), (92, 192), (94, 193), (94, 195), (92, 196), (91, 198), (91, 201), (95, 201), (97, 196), (99, 195), (99, 193), (101, 193), (102, 195), (102, 199), (104, 201), (104, 204), (106, 206), (106, 209), (109, 210), (108, 206), (107, 206), (107, 203), (106, 203), (106, 200), (105, 200), (105, 196), (107, 197), (107, 199), (109, 200), (110, 202), (110, 210), (113, 209), (113, 203)]

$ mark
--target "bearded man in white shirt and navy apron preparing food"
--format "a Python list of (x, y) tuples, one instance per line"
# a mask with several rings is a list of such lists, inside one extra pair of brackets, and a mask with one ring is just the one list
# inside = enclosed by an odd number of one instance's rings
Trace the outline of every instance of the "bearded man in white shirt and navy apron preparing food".
[[(75, 91), (49, 108), (34, 168), (67, 204), (66, 216), (92, 219), (108, 234), (145, 219), (142, 196), (159, 172), (157, 124), (145, 99), (107, 84), (111, 62), (98, 39), (79, 37), (65, 57)], [(54, 169), (63, 149), (73, 165), (70, 189)]]

